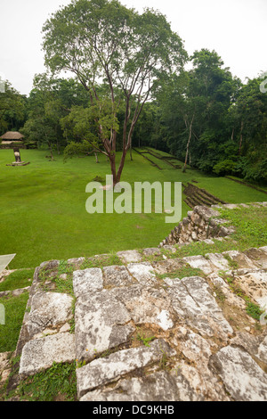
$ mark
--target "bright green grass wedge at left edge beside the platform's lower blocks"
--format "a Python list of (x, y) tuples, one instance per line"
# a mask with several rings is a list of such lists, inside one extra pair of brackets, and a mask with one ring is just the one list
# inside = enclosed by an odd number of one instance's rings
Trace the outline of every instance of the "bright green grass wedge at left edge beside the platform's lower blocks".
[(0, 352), (16, 349), (20, 328), (28, 302), (28, 292), (17, 297), (4, 297), (0, 304), (4, 306), (5, 324), (0, 325)]

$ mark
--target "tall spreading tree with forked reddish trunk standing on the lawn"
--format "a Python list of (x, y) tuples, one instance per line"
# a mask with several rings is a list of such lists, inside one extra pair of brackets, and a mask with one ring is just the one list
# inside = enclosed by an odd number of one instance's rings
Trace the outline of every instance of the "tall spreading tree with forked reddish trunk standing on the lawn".
[[(117, 0), (73, 0), (45, 22), (43, 32), (46, 66), (53, 73), (75, 73), (92, 105), (100, 110), (100, 119), (96, 116), (99, 151), (109, 158), (116, 184), (144, 103), (160, 79), (169, 71), (179, 72), (186, 60), (182, 39), (160, 12), (145, 9), (139, 14)], [(114, 121), (109, 136), (101, 126), (101, 83), (109, 89), (109, 119)], [(122, 155), (117, 168), (117, 111), (121, 103), (125, 116), (120, 127)]]

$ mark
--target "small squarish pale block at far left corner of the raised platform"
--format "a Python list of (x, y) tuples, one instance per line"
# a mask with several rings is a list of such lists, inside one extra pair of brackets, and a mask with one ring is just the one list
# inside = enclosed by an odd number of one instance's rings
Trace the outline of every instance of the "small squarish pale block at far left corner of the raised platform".
[(87, 292), (96, 292), (103, 289), (103, 278), (100, 267), (90, 267), (77, 270), (73, 273), (73, 291), (76, 297)]

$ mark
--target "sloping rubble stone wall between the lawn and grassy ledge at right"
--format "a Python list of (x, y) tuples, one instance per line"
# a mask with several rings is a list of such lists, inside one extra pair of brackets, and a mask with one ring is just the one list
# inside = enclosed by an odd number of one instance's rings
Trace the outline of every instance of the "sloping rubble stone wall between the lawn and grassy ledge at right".
[[(235, 205), (225, 204), (223, 207), (235, 208)], [(227, 220), (221, 218), (220, 212), (213, 208), (196, 206), (187, 214), (187, 217), (183, 218), (179, 225), (160, 242), (159, 247), (166, 244), (197, 242), (212, 237), (225, 237), (234, 232), (233, 226), (223, 226)]]

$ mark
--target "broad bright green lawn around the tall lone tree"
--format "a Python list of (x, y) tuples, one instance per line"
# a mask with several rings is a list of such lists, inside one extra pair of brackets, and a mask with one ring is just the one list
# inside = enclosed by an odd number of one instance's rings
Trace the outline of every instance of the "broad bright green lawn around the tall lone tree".
[[(166, 214), (88, 214), (85, 186), (95, 177), (110, 174), (109, 162), (100, 156), (55, 161), (48, 152), (21, 150), (28, 166), (8, 167), (12, 150), (0, 150), (0, 254), (16, 253), (10, 268), (36, 267), (44, 260), (93, 256), (127, 249), (155, 247), (174, 225)], [(119, 156), (118, 156), (119, 157)], [(208, 177), (198, 170), (182, 173), (161, 163), (152, 166), (142, 155), (127, 157), (122, 181), (182, 182), (198, 186), (227, 202), (267, 201), (266, 194), (224, 177)], [(182, 217), (190, 208), (182, 203)], [(176, 223), (175, 223), (176, 225)]]

